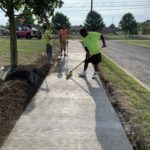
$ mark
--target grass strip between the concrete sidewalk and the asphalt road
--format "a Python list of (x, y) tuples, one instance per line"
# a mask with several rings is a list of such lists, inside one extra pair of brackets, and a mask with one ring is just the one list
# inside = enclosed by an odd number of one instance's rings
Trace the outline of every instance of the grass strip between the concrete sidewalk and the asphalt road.
[(134, 127), (137, 140), (150, 144), (150, 91), (104, 56), (100, 67), (101, 73), (115, 89), (115, 100), (126, 112), (126, 121)]

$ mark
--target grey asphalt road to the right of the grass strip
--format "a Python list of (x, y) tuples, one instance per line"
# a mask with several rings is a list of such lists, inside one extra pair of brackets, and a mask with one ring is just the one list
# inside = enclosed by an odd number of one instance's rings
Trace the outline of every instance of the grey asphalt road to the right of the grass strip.
[(103, 52), (150, 88), (150, 48), (107, 41)]

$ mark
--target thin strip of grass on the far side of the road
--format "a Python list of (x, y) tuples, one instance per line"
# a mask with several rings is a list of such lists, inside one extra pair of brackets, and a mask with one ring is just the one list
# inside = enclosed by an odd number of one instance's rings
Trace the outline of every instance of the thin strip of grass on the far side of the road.
[(150, 47), (150, 40), (127, 40), (126, 42), (134, 45)]

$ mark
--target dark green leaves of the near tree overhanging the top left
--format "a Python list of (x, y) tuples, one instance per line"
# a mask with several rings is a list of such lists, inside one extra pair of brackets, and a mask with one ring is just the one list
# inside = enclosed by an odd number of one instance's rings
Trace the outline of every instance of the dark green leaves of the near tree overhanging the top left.
[(0, 0), (0, 7), (7, 9), (7, 12), (10, 8), (14, 11), (28, 8), (41, 22), (47, 22), (55, 8), (60, 8), (62, 5), (62, 0)]

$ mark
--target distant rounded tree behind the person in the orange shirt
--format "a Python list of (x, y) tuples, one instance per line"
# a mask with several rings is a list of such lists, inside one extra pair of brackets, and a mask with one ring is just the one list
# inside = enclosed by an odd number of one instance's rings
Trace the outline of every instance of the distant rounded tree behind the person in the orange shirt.
[(65, 16), (63, 13), (57, 12), (52, 18), (52, 24), (55, 30), (60, 30), (62, 25), (66, 25), (67, 28), (70, 28), (71, 23), (69, 22), (69, 18)]

